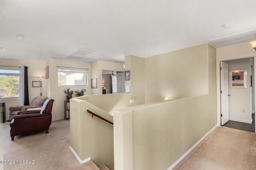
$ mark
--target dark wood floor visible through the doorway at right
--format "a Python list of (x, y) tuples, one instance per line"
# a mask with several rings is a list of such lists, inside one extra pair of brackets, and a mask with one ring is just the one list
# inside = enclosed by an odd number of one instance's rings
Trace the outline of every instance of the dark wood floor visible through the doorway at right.
[(240, 129), (242, 131), (255, 132), (255, 114), (252, 114), (252, 124), (230, 120), (223, 126), (230, 127), (233, 129)]

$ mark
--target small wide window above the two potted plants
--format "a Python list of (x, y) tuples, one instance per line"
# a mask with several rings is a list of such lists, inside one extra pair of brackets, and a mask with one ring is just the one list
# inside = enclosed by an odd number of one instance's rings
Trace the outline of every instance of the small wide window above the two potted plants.
[(59, 86), (86, 86), (87, 69), (58, 67)]

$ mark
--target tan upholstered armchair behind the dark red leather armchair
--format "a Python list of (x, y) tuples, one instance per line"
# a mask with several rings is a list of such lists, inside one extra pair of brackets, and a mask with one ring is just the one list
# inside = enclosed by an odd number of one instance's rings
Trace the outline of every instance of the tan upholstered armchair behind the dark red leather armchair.
[(11, 121), (12, 119), (14, 119), (14, 116), (18, 115), (19, 111), (26, 111), (27, 109), (42, 107), (44, 105), (44, 102), (46, 101), (46, 99), (47, 99), (47, 97), (37, 96), (32, 100), (31, 104), (28, 106), (14, 106), (14, 107), (11, 106), (11, 107), (9, 107), (9, 110), (10, 110), (9, 120)]

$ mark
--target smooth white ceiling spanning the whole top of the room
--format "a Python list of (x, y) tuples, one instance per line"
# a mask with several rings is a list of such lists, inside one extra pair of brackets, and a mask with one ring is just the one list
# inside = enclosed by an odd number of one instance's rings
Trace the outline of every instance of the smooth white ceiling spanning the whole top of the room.
[[(1, 0), (0, 58), (68, 59), (78, 48), (97, 51), (78, 61), (149, 57), (256, 29), (255, 6), (255, 0)], [(224, 29), (225, 23), (233, 26)]]

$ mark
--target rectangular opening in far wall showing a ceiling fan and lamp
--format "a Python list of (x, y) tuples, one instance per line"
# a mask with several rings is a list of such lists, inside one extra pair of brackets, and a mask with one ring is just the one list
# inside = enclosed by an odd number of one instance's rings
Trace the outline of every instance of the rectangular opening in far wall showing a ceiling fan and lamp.
[(114, 70), (102, 70), (102, 94), (124, 92), (124, 72)]

